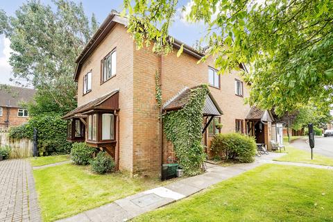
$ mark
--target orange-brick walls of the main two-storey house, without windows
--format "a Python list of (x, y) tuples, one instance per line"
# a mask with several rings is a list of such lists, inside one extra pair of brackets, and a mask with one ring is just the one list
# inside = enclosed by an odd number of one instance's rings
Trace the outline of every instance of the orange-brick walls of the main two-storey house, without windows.
[[(117, 47), (117, 74), (108, 82), (100, 84), (101, 59)], [(212, 59), (196, 64), (197, 59), (185, 53), (177, 58), (177, 50), (170, 55), (157, 56), (151, 49), (137, 51), (126, 33), (126, 28), (117, 25), (92, 53), (78, 76), (78, 105), (119, 89), (120, 143), (119, 168), (130, 173), (158, 175), (160, 173), (160, 124), (159, 109), (155, 101), (155, 71), (160, 69), (162, 99), (165, 103), (183, 87), (208, 83), (208, 66)], [(92, 92), (83, 95), (83, 75), (92, 70)], [(221, 76), (221, 89), (210, 87), (214, 98), (224, 114), (222, 133), (234, 131), (234, 119), (245, 119), (249, 110), (244, 98), (234, 95), (234, 78), (237, 71)], [(244, 84), (244, 96), (248, 87)], [(207, 136), (208, 145), (212, 137)], [(164, 158), (173, 155), (172, 146), (163, 139)], [(168, 152), (170, 151), (170, 152)]]

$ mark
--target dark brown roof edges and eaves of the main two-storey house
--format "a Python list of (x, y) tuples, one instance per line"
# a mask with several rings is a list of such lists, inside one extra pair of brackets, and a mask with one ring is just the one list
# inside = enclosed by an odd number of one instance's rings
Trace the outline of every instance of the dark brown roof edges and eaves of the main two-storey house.
[[(91, 55), (92, 51), (94, 51), (94, 49), (99, 46), (99, 44), (104, 40), (108, 33), (110, 33), (115, 24), (122, 24), (123, 26), (128, 26), (128, 19), (126, 17), (121, 17), (118, 13), (115, 12), (111, 12), (108, 17), (106, 17), (101, 26), (99, 26), (99, 29), (92, 36), (91, 40), (80, 53), (78, 58), (76, 58), (77, 65), (74, 80), (78, 80), (78, 73), (80, 72), (83, 62), (85, 62), (85, 60)], [(180, 49), (180, 46), (184, 44), (183, 42), (176, 40), (175, 38), (173, 38), (173, 40), (173, 46), (176, 49)], [(187, 44), (184, 44), (183, 52), (188, 53), (189, 55), (194, 56), (198, 59), (205, 56), (204, 53), (200, 53), (199, 51), (197, 51), (191, 46), (188, 46)]]

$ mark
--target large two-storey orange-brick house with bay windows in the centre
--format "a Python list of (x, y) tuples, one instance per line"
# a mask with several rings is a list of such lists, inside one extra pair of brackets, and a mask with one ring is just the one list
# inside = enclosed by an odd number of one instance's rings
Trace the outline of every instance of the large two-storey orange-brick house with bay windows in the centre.
[[(203, 144), (210, 146), (216, 133), (247, 133), (244, 103), (250, 86), (238, 71), (218, 75), (212, 58), (175, 40), (175, 50), (160, 56), (150, 48), (136, 50), (126, 29), (127, 19), (110, 14), (77, 58), (74, 80), (78, 83), (78, 108), (66, 114), (68, 139), (85, 141), (107, 151), (120, 170), (158, 175), (162, 163), (173, 158), (172, 146), (162, 133), (160, 108), (155, 99), (155, 73), (160, 74), (163, 107), (190, 87), (210, 85), (210, 101), (216, 112), (203, 115)], [(167, 110), (162, 110), (167, 112)], [(212, 119), (212, 120), (211, 120)], [(223, 123), (217, 130), (215, 123)], [(207, 151), (209, 152), (209, 151)]]

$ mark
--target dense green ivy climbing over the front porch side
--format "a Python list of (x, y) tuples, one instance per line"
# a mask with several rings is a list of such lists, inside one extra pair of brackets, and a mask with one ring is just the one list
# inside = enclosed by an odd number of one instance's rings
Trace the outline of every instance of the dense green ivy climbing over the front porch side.
[(179, 164), (187, 176), (200, 173), (205, 153), (201, 144), (203, 128), (203, 106), (209, 92), (207, 85), (191, 89), (184, 108), (164, 114), (163, 128), (167, 139), (172, 142)]

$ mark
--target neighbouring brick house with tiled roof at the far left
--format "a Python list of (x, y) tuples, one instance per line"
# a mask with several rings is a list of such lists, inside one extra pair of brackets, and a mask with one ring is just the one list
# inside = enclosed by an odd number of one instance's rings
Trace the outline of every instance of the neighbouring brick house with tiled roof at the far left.
[(10, 85), (0, 89), (0, 131), (28, 121), (28, 110), (24, 110), (20, 103), (33, 100), (35, 92), (35, 89)]

